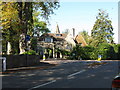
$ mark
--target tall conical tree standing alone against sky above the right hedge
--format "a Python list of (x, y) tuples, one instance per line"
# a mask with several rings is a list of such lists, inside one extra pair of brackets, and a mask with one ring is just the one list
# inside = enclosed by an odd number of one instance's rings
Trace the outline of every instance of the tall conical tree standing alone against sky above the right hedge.
[(94, 45), (98, 46), (100, 43), (113, 43), (113, 27), (112, 21), (108, 18), (108, 13), (99, 9), (96, 17), (91, 36), (96, 41)]

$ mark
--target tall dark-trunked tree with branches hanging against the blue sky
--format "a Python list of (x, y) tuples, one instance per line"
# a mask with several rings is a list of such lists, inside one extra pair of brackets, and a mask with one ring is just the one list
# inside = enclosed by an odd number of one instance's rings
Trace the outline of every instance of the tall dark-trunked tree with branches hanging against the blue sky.
[[(24, 52), (24, 51), (28, 50), (27, 49), (28, 46), (27, 46), (26, 40), (23, 40), (23, 38), (25, 38), (27, 34), (29, 34), (31, 37), (33, 36), (33, 34), (34, 34), (33, 27), (34, 26), (36, 29), (39, 29), (41, 31), (48, 31), (47, 28), (41, 27), (37, 21), (33, 20), (33, 11), (39, 10), (40, 16), (43, 17), (44, 19), (48, 20), (50, 14), (54, 13), (53, 10), (57, 9), (59, 7), (59, 2), (18, 2), (18, 6), (20, 6), (19, 17), (21, 18), (20, 19), (21, 23), (24, 26), (24, 28), (23, 28), (24, 31), (22, 32), (22, 35), (21, 35), (22, 38), (20, 40), (20, 43), (21, 43), (20, 48)], [(30, 14), (30, 16), (29, 16), (29, 14)], [(36, 24), (33, 24), (33, 23), (36, 23)], [(46, 23), (41, 22), (41, 24), (44, 24), (42, 26), (46, 26), (45, 25)], [(25, 42), (23, 42), (22, 40)]]

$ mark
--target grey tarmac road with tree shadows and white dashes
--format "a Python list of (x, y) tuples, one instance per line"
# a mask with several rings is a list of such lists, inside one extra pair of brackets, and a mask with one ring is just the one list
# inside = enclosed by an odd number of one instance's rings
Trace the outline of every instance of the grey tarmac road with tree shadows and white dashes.
[(2, 88), (111, 88), (118, 61), (89, 67), (92, 62), (69, 62), (43, 70), (25, 70), (2, 76)]

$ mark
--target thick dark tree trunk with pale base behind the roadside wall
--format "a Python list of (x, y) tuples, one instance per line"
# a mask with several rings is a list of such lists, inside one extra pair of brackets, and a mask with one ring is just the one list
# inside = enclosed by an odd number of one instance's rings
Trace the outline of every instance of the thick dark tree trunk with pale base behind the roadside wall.
[(18, 2), (18, 11), (21, 25), (21, 35), (19, 40), (20, 54), (30, 50), (30, 41), (25, 37), (32, 32), (33, 17), (32, 17), (32, 2)]

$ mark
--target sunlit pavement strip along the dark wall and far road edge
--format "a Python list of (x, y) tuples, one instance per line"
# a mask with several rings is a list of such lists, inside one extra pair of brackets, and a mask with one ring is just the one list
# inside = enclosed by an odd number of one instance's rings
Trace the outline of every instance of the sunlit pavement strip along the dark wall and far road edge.
[[(27, 66), (27, 67), (19, 67), (19, 68), (11, 68), (7, 69), (4, 72), (0, 72), (0, 74), (7, 74), (7, 73), (15, 73), (18, 71), (23, 71), (23, 70), (35, 70), (35, 69), (47, 69), (50, 67), (57, 66), (61, 63), (70, 63), (70, 62), (81, 62), (81, 61), (96, 61), (96, 60), (54, 60), (54, 59), (47, 59), (47, 60), (40, 60), (40, 63), (38, 65), (34, 66)], [(103, 61), (112, 61), (112, 60), (103, 60)], [(114, 60), (118, 61), (118, 60)]]

